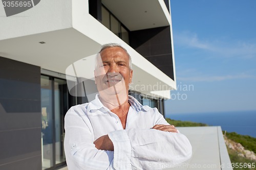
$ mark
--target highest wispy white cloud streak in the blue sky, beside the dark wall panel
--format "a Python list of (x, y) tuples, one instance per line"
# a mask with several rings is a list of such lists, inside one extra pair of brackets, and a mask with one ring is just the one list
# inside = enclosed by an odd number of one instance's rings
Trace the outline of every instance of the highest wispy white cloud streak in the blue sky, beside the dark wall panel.
[(176, 33), (174, 36), (176, 45), (202, 49), (220, 57), (256, 58), (256, 43), (202, 40), (196, 33), (190, 32)]

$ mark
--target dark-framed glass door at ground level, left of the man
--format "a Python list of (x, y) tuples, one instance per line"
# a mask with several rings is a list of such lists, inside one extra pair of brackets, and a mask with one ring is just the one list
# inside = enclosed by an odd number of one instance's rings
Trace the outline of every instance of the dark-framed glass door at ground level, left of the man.
[(77, 99), (69, 94), (66, 80), (41, 75), (42, 169), (55, 169), (66, 163), (64, 116), (76, 103)]

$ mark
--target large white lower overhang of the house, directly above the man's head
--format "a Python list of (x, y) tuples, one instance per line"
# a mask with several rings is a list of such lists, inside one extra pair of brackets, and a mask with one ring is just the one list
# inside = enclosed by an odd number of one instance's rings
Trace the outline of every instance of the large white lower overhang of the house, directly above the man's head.
[[(116, 42), (132, 56), (131, 89), (170, 98), (169, 90), (176, 88), (175, 81), (93, 18), (87, 1), (45, 0), (34, 8), (13, 17), (0, 17), (1, 57), (65, 74), (70, 64), (96, 54), (102, 44)], [(3, 11), (0, 15), (4, 15)]]

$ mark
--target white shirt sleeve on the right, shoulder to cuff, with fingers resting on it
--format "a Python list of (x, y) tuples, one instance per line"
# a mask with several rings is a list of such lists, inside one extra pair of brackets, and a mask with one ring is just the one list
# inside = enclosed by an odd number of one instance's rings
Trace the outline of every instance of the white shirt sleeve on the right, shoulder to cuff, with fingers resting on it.
[[(155, 125), (169, 125), (156, 112)], [(156, 129), (129, 129), (109, 134), (114, 145), (115, 169), (164, 169), (179, 166), (192, 155), (187, 137)]]

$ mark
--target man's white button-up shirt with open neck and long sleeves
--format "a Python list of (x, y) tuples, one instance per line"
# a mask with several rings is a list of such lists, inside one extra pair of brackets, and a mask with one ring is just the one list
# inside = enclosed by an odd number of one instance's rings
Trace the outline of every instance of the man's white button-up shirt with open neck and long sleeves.
[[(169, 125), (157, 108), (142, 106), (129, 96), (125, 130), (119, 117), (104, 107), (96, 95), (90, 103), (76, 105), (65, 116), (65, 154), (69, 170), (162, 169), (191, 157), (189, 140), (181, 133), (151, 129)], [(109, 135), (114, 151), (95, 148), (94, 141)]]

